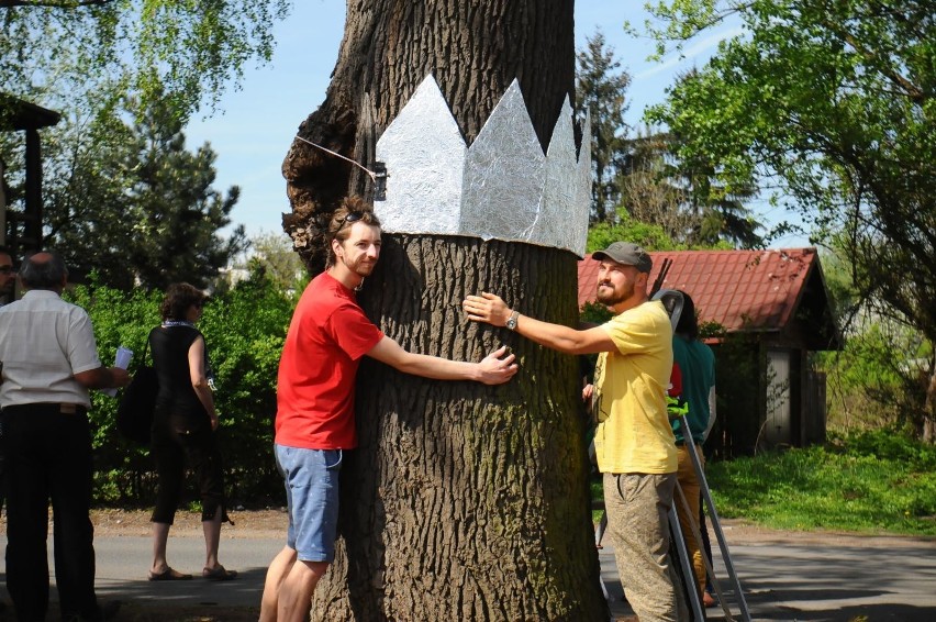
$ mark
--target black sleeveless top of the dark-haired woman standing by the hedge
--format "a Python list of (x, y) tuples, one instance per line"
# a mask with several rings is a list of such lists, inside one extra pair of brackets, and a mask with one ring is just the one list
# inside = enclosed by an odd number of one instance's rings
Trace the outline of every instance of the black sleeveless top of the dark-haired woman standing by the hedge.
[[(189, 348), (201, 336), (193, 326), (156, 326), (149, 333), (149, 352), (159, 377), (156, 411), (169, 415), (208, 416), (192, 388)], [(208, 348), (204, 352), (208, 370)]]

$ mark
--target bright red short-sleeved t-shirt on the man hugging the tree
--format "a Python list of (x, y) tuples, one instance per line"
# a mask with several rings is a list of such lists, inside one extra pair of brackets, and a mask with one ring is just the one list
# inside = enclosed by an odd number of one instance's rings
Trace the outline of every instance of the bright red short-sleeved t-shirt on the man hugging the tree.
[(357, 446), (354, 381), (360, 357), (383, 338), (354, 292), (327, 273), (292, 314), (277, 378), (276, 443), (307, 449)]

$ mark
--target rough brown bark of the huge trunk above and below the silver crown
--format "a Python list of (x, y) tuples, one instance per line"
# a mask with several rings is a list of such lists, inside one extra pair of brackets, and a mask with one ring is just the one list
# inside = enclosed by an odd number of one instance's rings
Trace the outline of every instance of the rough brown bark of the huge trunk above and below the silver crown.
[[(548, 145), (575, 76), (573, 0), (349, 1), (311, 142), (371, 165), (376, 138), (433, 74), (468, 144), (520, 81)], [(336, 202), (369, 178), (304, 142), (283, 163), (283, 227), (313, 271)], [(391, 171), (392, 175), (392, 171)], [(426, 206), (432, 218), (432, 206)], [(404, 347), (480, 359), (510, 345), (522, 370), (503, 387), (435, 382), (365, 362), (360, 447), (343, 468), (338, 556), (314, 620), (606, 620), (591, 536), (579, 363), (505, 329), (464, 320), (467, 293), (575, 324), (567, 252), (467, 236), (385, 234), (360, 300)]]

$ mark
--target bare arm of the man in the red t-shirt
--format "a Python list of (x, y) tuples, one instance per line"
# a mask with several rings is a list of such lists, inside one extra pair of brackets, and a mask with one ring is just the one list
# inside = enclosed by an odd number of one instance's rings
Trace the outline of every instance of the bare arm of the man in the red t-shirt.
[(450, 360), (438, 356), (406, 352), (400, 344), (385, 336), (370, 348), (368, 356), (393, 367), (404, 374), (413, 374), (434, 380), (475, 380), (484, 385), (501, 385), (516, 374), (514, 355), (505, 356), (506, 347), (501, 347), (486, 356), (480, 363)]

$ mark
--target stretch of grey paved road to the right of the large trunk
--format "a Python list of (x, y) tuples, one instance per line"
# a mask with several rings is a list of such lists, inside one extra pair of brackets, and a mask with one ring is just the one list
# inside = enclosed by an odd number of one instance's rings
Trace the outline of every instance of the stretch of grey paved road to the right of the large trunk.
[[(936, 541), (900, 537), (836, 536), (771, 538), (728, 547), (753, 620), (823, 622), (936, 621)], [(714, 541), (713, 541), (714, 545)], [(632, 613), (620, 598), (613, 554), (603, 549), (602, 577), (611, 579), (612, 612)], [(735, 619), (739, 607), (726, 578), (726, 602)], [(721, 608), (709, 620), (725, 620)]]

